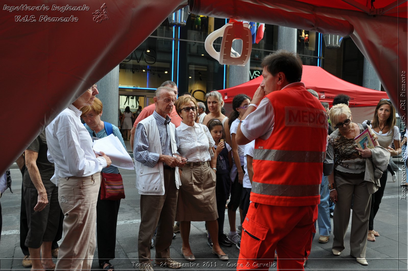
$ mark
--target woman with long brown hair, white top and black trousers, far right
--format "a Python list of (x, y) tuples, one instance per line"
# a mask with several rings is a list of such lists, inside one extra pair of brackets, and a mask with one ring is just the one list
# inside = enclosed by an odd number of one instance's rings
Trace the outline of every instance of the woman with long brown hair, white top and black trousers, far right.
[[(379, 145), (388, 149), (391, 157), (397, 156), (401, 153), (400, 133), (398, 127), (395, 126), (395, 108), (392, 106), (389, 99), (381, 99), (375, 108), (373, 120), (370, 122), (365, 121), (363, 123), (370, 125), (375, 135), (378, 136)], [(395, 149), (391, 148), (392, 143), (394, 143)], [(375, 241), (375, 236), (380, 236), (377, 231), (374, 231), (374, 218), (384, 195), (384, 189), (387, 184), (387, 176), (388, 170), (386, 169), (380, 178), (381, 186), (371, 197), (371, 211), (367, 235), (367, 240), (371, 242)], [(397, 176), (395, 175), (395, 180), (396, 177)]]

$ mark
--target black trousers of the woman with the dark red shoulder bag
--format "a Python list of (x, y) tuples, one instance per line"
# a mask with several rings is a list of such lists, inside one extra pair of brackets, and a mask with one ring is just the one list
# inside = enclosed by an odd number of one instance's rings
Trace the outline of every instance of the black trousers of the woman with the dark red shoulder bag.
[(101, 200), (99, 189), (96, 203), (96, 240), (98, 243), (99, 263), (109, 262), (115, 258), (116, 223), (120, 200)]

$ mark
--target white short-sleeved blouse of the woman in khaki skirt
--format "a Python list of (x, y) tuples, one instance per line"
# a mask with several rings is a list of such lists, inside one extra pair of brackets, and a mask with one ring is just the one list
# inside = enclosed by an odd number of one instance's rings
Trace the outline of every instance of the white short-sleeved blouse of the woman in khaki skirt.
[(213, 147), (215, 142), (205, 125), (194, 123), (194, 126), (188, 126), (182, 122), (176, 131), (179, 139), (179, 152), (188, 158), (188, 163), (211, 161), (208, 148)]

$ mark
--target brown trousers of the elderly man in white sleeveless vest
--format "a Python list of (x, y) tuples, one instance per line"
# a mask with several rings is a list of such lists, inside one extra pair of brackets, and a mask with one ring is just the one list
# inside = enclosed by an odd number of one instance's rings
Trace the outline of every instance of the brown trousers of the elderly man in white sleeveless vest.
[(177, 197), (175, 170), (166, 167), (164, 167), (164, 195), (140, 195), (141, 222), (137, 252), (141, 264), (150, 263), (150, 245), (156, 227), (155, 258), (161, 261), (170, 257)]

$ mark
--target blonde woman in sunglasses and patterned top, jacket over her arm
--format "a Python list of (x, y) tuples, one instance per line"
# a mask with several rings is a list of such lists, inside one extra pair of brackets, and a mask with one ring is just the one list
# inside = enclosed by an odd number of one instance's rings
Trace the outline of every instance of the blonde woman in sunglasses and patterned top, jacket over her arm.
[[(372, 164), (384, 170), (387, 167), (389, 154), (379, 147), (377, 137), (368, 127), (374, 142), (374, 149), (358, 149), (354, 138), (365, 128), (362, 124), (352, 122), (353, 116), (346, 104), (336, 104), (329, 113), (333, 127), (337, 127), (330, 134), (329, 143), (333, 145), (335, 166), (329, 175), (330, 200), (336, 204), (333, 215), (333, 247), (334, 255), (340, 255), (344, 250), (350, 209), (353, 202), (351, 218), (350, 255), (357, 258), (357, 262), (367, 265), (366, 247), (368, 218), (370, 216), (371, 194), (378, 189), (378, 178), (372, 169)], [(366, 160), (366, 158), (371, 158)], [(372, 164), (369, 164), (371, 163)], [(368, 168), (370, 167), (371, 168)], [(381, 166), (380, 166), (381, 165)], [(367, 167), (368, 166), (368, 167)]]

